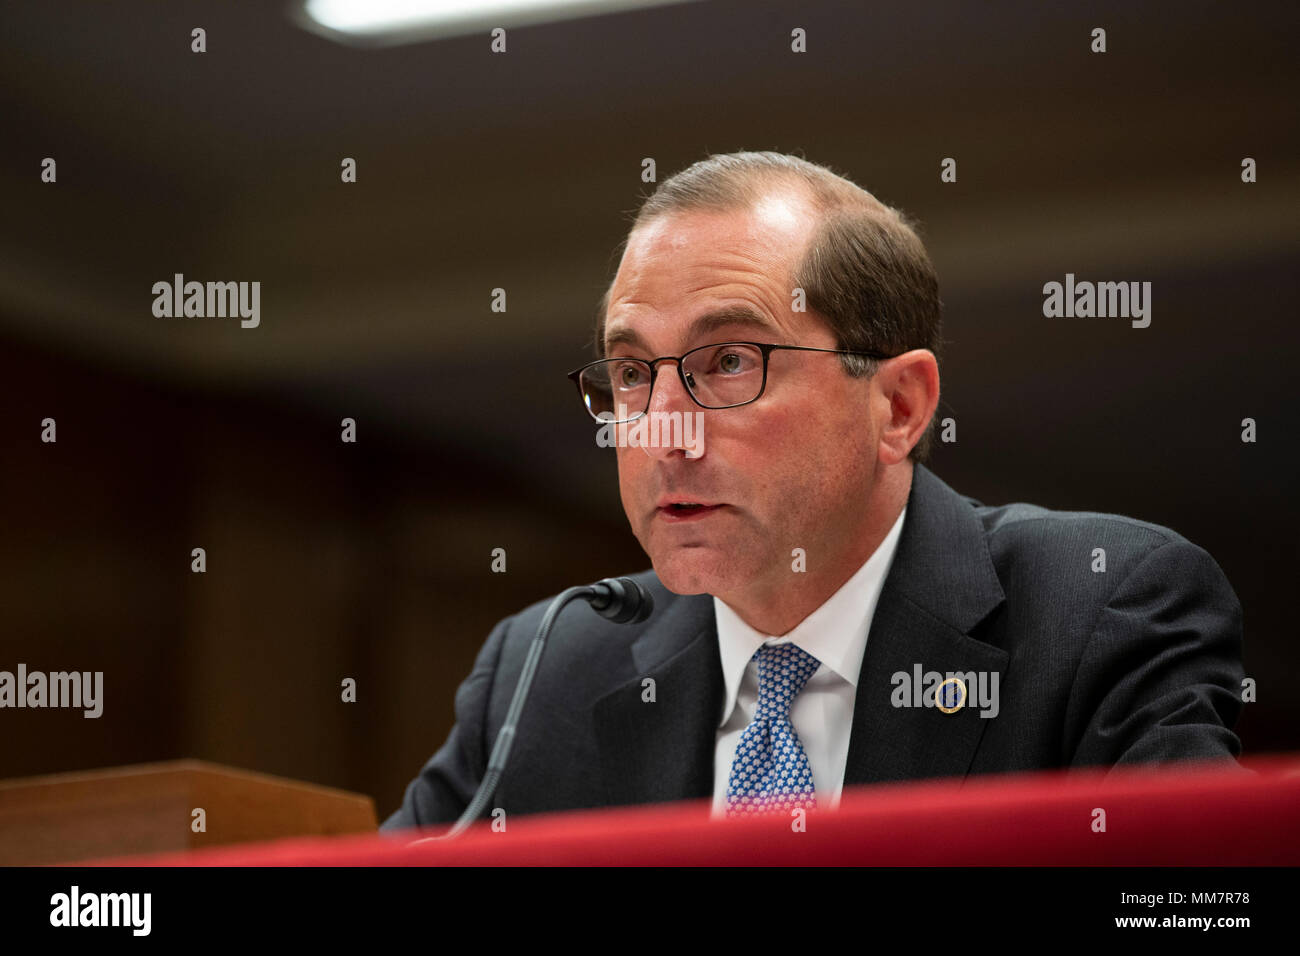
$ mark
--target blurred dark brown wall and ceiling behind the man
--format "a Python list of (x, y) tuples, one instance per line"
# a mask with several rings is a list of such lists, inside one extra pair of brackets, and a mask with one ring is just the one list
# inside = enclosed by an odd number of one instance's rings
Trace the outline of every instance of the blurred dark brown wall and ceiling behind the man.
[[(105, 702), (0, 711), (0, 778), (192, 756), (391, 810), (495, 620), (647, 564), (564, 372), (642, 157), (737, 148), (920, 221), (958, 423), (933, 470), (1205, 546), (1245, 607), (1245, 748), (1296, 749), (1296, 17), (699, 3), (494, 56), (350, 48), (260, 3), (6, 4), (0, 670), (103, 670)], [(260, 281), (260, 328), (155, 317), (176, 272)], [(1150, 281), (1150, 328), (1045, 319), (1067, 272)]]

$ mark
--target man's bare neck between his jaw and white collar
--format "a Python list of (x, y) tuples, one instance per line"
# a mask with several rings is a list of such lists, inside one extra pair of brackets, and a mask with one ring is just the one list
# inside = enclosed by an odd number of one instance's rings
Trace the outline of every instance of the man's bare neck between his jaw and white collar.
[(898, 473), (875, 484), (864, 529), (853, 536), (836, 561), (816, 571), (785, 572), (776, 583), (764, 581), (744, 594), (718, 597), (759, 633), (780, 637), (793, 631), (871, 559), (898, 520), (911, 492), (914, 466), (909, 460), (906, 468), (890, 471)]

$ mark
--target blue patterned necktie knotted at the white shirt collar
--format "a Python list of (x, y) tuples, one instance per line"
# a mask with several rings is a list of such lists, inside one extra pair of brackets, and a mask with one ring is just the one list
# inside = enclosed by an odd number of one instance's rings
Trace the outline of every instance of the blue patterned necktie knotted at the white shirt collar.
[(758, 661), (758, 706), (741, 734), (727, 782), (727, 816), (816, 808), (809, 757), (790, 724), (790, 702), (820, 666), (794, 644), (764, 644)]

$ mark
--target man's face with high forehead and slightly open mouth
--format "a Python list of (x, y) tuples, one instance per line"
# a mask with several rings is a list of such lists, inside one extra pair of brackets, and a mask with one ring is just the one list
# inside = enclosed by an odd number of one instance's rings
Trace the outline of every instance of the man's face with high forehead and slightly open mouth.
[[(729, 341), (837, 347), (824, 320), (792, 310), (793, 267), (815, 224), (797, 193), (651, 220), (629, 237), (615, 277), (606, 354), (653, 359)], [(738, 308), (753, 316), (718, 317)], [(772, 352), (763, 397), (718, 410), (697, 406), (660, 364), (650, 412), (702, 412), (702, 454), (619, 447), (618, 460), (623, 507), (663, 584), (732, 604), (798, 584), (796, 548), (810, 571), (842, 564), (867, 520), (868, 408), (879, 401), (824, 352)], [(710, 507), (673, 507), (686, 503)]]

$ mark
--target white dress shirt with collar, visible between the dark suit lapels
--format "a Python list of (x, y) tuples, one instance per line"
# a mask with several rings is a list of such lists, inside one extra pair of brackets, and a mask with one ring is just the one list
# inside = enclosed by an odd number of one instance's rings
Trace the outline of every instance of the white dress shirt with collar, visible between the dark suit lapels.
[(818, 806), (835, 809), (840, 805), (858, 671), (867, 650), (871, 618), (876, 613), (880, 589), (889, 574), (906, 514), (907, 509), (904, 507), (880, 546), (844, 587), (781, 637), (759, 633), (723, 601), (714, 598), (718, 649), (727, 684), (723, 722), (718, 728), (714, 750), (714, 817), (724, 816), (727, 783), (736, 747), (758, 706), (758, 663), (751, 659), (754, 652), (763, 644), (786, 641), (793, 641), (822, 662), (794, 697), (790, 723), (809, 757)]

